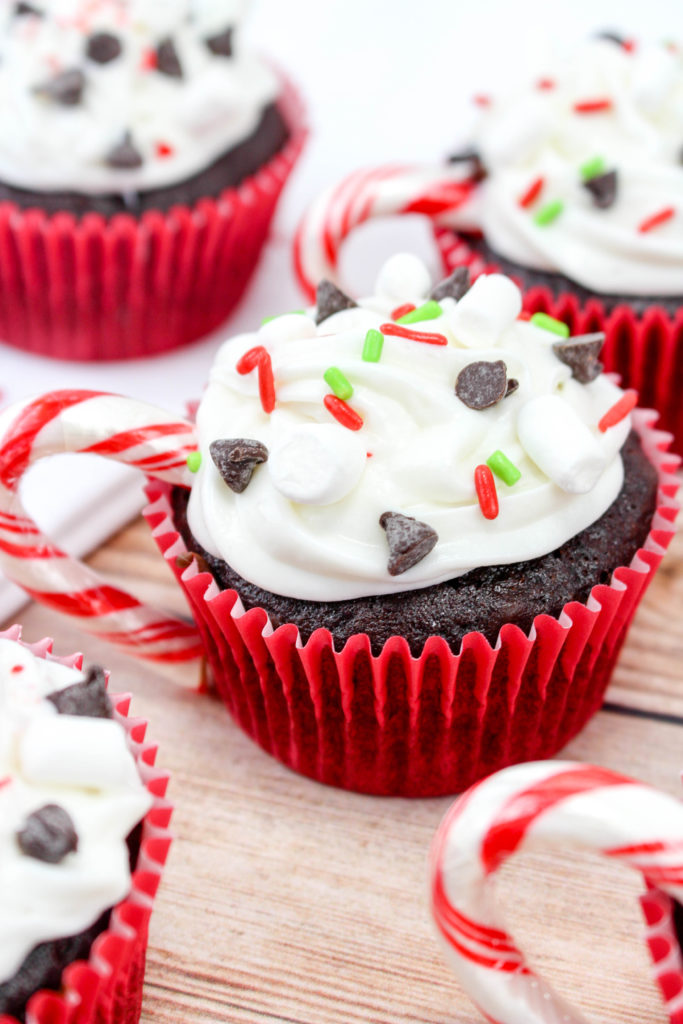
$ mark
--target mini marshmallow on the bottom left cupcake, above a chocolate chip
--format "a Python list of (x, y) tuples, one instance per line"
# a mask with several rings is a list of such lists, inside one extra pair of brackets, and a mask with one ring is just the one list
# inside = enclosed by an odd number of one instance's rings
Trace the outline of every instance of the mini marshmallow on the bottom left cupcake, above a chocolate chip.
[(46, 715), (19, 740), (22, 772), (29, 782), (111, 790), (136, 782), (126, 736), (111, 719)]

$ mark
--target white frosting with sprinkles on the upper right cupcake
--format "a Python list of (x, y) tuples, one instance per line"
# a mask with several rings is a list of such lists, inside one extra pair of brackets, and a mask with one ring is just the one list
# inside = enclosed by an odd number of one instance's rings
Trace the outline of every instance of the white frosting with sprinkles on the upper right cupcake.
[[(539, 83), (551, 85), (543, 88)], [(611, 106), (577, 113), (575, 103)], [(478, 226), (502, 256), (529, 268), (562, 273), (595, 292), (683, 293), (683, 57), (666, 45), (629, 50), (593, 39), (545, 75), (482, 109), (472, 141), (488, 171), (477, 197), (457, 216)], [(608, 209), (594, 205), (581, 166), (602, 157), (616, 170), (618, 191)], [(538, 200), (522, 208), (535, 180)], [(560, 200), (562, 213), (541, 226), (533, 215)], [(673, 207), (656, 229), (639, 225)]]

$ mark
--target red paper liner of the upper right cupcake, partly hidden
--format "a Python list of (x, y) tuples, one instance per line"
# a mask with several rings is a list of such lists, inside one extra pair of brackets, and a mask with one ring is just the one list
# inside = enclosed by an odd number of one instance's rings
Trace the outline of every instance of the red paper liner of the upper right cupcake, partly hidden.
[[(461, 264), (469, 266), (474, 276), (500, 269), (475, 252), (466, 238), (447, 228), (435, 233), (449, 273)], [(656, 305), (642, 315), (628, 304), (607, 313), (598, 297), (582, 302), (570, 292), (556, 296), (545, 286), (522, 292), (527, 312), (564, 321), (572, 334), (604, 331), (605, 370), (620, 374), (625, 387), (636, 388), (641, 406), (656, 409), (661, 429), (674, 435), (674, 450), (683, 453), (683, 307), (674, 316)]]

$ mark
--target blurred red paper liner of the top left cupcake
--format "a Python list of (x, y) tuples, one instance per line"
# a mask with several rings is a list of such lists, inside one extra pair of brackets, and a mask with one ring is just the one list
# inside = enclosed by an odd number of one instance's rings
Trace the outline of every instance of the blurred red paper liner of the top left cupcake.
[(0, 339), (59, 359), (154, 355), (207, 335), (256, 267), (306, 128), (293, 86), (287, 145), (237, 188), (139, 218), (0, 203)]

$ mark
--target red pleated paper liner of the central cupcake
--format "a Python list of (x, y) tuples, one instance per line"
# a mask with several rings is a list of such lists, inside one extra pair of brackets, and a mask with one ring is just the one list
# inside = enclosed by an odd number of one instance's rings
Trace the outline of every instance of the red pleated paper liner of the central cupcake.
[(295, 771), (360, 793), (432, 797), (460, 792), (519, 761), (551, 757), (599, 709), (627, 629), (673, 534), (679, 460), (656, 414), (634, 425), (659, 476), (650, 532), (630, 566), (557, 617), (538, 615), (528, 636), (503, 627), (495, 647), (469, 633), (454, 654), (430, 637), (420, 657), (392, 637), (379, 655), (367, 635), (335, 650), (316, 630), (304, 644), (293, 624), (273, 629), (219, 590), (173, 522), (169, 484), (147, 485), (144, 515), (182, 587), (215, 687), (237, 723)]

